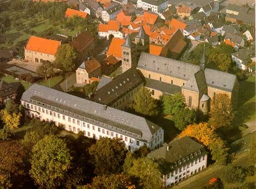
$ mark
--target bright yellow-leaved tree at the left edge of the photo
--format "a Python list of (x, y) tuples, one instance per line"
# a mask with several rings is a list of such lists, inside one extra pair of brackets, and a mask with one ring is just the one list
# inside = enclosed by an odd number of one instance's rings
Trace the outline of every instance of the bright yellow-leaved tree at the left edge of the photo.
[(2, 110), (0, 112), (1, 120), (3, 121), (4, 125), (9, 128), (9, 130), (14, 130), (18, 128), (22, 114), (21, 112), (18, 113), (8, 113), (7, 110)]

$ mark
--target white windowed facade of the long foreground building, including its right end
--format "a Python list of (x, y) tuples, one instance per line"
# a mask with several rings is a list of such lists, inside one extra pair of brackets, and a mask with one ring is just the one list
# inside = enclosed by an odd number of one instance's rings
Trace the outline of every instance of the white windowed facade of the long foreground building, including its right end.
[[(121, 138), (122, 141), (125, 142), (127, 149), (132, 152), (144, 145), (153, 150), (155, 148), (159, 148), (164, 143), (164, 130), (162, 128), (152, 135), (151, 142), (145, 142), (133, 137), (134, 134), (130, 132), (116, 132), (117, 128), (106, 126), (106, 124), (97, 120), (91, 120), (82, 116), (80, 116), (81, 118), (77, 118), (73, 116), (74, 114), (72, 112), (70, 115), (66, 115), (53, 111), (52, 108), (46, 108), (50, 105), (42, 107), (43, 103), (36, 105), (33, 101), (25, 102), (23, 100), (21, 100), (21, 104), (26, 108), (26, 115), (29, 117), (37, 117), (41, 121), (45, 120), (48, 122), (55, 122), (56, 126), (63, 125), (65, 130), (72, 131), (74, 133), (82, 131), (85, 136), (95, 138), (96, 140), (99, 140), (101, 137)], [(54, 109), (58, 110), (56, 107)]]

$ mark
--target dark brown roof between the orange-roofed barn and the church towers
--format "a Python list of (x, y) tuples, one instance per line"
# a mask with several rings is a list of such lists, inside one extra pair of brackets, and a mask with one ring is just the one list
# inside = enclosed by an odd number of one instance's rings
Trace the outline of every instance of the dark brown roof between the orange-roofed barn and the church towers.
[(73, 41), (71, 41), (71, 44), (77, 52), (82, 52), (93, 41), (94, 39), (89, 33), (83, 32), (75, 39), (73, 39)]

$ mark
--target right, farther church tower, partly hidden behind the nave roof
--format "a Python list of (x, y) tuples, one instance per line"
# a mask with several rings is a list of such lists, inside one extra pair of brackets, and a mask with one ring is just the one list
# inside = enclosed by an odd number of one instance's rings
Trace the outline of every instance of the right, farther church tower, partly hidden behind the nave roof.
[(141, 52), (149, 53), (149, 36), (145, 33), (143, 26), (141, 26), (140, 32), (135, 36), (134, 42), (136, 44), (135, 63), (137, 64)]

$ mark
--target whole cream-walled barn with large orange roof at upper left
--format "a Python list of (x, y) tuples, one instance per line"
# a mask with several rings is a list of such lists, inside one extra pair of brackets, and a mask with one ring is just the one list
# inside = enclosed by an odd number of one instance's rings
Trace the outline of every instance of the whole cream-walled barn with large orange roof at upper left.
[(24, 49), (25, 59), (29, 62), (53, 62), (60, 45), (60, 41), (31, 36)]

